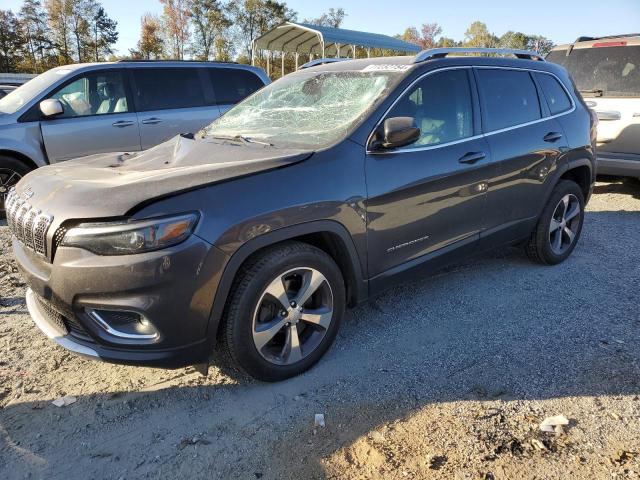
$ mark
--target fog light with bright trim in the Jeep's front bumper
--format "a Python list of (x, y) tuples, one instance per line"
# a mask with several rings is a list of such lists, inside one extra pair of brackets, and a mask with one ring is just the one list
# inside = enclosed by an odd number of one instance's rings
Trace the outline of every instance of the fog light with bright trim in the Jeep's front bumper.
[(150, 342), (159, 337), (158, 330), (139, 313), (93, 308), (86, 311), (105, 332), (119, 339)]

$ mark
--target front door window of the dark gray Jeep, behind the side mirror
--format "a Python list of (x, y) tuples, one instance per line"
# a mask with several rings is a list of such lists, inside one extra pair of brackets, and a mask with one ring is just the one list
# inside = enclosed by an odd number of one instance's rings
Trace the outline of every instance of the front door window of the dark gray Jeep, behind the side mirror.
[(427, 75), (388, 117), (412, 117), (420, 138), (406, 148), (439, 145), (473, 136), (473, 99), (466, 69)]

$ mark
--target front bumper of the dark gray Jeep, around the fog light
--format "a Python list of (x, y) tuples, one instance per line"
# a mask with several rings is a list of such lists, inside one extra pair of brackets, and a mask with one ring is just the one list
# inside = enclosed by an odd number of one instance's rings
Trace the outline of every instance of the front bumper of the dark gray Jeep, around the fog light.
[[(205, 362), (215, 331), (213, 298), (227, 257), (192, 236), (165, 250), (105, 257), (59, 248), (50, 264), (14, 239), (27, 308), (47, 337), (79, 355), (113, 363), (177, 368)], [(152, 342), (118, 338), (89, 314), (135, 312), (159, 332)]]

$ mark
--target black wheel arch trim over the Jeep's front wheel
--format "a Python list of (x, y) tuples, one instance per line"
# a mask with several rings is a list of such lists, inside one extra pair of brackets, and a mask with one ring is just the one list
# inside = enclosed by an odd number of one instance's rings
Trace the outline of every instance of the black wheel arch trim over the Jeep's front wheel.
[(351, 235), (341, 223), (333, 220), (320, 220), (283, 227), (249, 240), (227, 262), (214, 296), (213, 308), (209, 317), (208, 336), (211, 340), (215, 340), (217, 335), (224, 307), (240, 267), (252, 255), (267, 247), (290, 240), (313, 245), (333, 258), (342, 271), (347, 287), (349, 306), (366, 300), (368, 288), (362, 263)]

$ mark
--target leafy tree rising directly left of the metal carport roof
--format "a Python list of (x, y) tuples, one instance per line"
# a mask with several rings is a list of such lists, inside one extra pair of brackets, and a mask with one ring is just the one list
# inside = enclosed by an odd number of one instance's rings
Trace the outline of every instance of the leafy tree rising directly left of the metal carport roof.
[(297, 16), (286, 3), (274, 0), (230, 0), (229, 13), (237, 42), (249, 58), (256, 38)]

